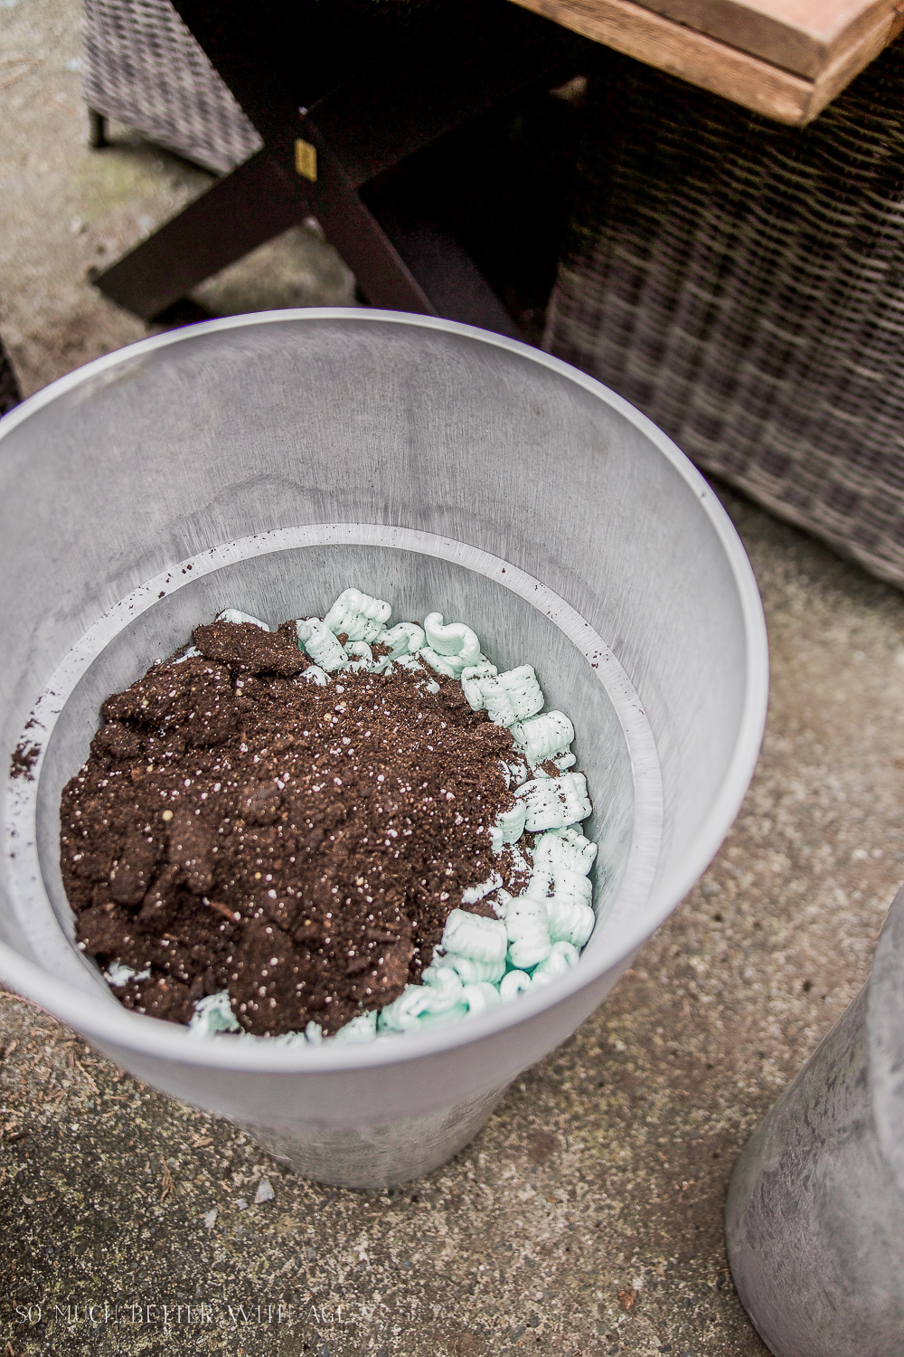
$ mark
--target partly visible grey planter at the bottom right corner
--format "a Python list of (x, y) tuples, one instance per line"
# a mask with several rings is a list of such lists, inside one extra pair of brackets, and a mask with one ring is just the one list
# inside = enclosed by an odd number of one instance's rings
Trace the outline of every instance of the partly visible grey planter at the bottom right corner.
[(904, 1352), (904, 890), (873, 970), (747, 1144), (728, 1254), (777, 1357)]

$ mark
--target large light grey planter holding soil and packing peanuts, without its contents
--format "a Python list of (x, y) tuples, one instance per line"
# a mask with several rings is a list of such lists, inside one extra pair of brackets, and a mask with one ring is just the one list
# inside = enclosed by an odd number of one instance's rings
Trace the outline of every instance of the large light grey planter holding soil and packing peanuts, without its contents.
[[(451, 322), (239, 316), (70, 373), (0, 422), (0, 554), (7, 761), (20, 750), (0, 976), (324, 1182), (403, 1182), (466, 1144), (705, 870), (756, 761), (766, 630), (713, 493), (592, 379)], [(580, 963), (370, 1046), (199, 1042), (126, 1012), (72, 943), (58, 867), (60, 791), (100, 702), (222, 607), (275, 623), (347, 585), (468, 622), (573, 718), (600, 843)]]

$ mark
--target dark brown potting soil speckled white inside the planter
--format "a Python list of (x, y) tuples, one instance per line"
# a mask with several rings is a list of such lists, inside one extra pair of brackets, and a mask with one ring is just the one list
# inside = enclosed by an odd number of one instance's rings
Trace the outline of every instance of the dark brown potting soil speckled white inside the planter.
[(186, 1023), (228, 989), (247, 1031), (333, 1033), (419, 982), (465, 887), (497, 871), (520, 889), (523, 859), (488, 832), (512, 805), (512, 737), (423, 670), (317, 687), (291, 622), (194, 641), (107, 697), (64, 788), (79, 946), (149, 968), (114, 989), (127, 1008)]

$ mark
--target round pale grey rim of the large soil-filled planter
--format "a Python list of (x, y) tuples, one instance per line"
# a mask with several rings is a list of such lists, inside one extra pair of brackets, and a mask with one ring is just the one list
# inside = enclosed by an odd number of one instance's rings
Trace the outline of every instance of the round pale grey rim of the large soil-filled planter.
[(157, 1058), (171, 1058), (183, 1065), (194, 1065), (203, 1069), (233, 1069), (248, 1073), (289, 1076), (300, 1073), (329, 1075), (355, 1069), (363, 1072), (378, 1067), (408, 1064), (492, 1038), (546, 1010), (554, 1008), (599, 980), (600, 976), (611, 972), (623, 972), (630, 963), (633, 954), (683, 900), (718, 851), (749, 786), (766, 722), (768, 641), (763, 605), (754, 570), (741, 540), (714, 491), (676, 444), (657, 429), (651, 419), (629, 404), (628, 400), (594, 377), (562, 362), (560, 358), (533, 349), (518, 339), (510, 339), (504, 335), (492, 334), (438, 316), (346, 307), (264, 311), (245, 316), (226, 316), (218, 320), (207, 320), (202, 324), (187, 326), (176, 331), (141, 339), (125, 349), (118, 349), (102, 358), (96, 358), (94, 362), (53, 381), (42, 391), (22, 402), (20, 406), (16, 406), (0, 421), (0, 452), (3, 451), (3, 437), (24, 422), (31, 414), (50, 404), (65, 392), (79, 387), (81, 383), (106, 373), (119, 364), (131, 362), (159, 349), (190, 342), (197, 335), (247, 328), (258, 324), (310, 324), (323, 322), (398, 324), (409, 328), (439, 330), (477, 343), (503, 349), (583, 387), (604, 404), (610, 406), (610, 408), (617, 411), (629, 423), (634, 425), (671, 463), (701, 501), (725, 552), (737, 590), (747, 642), (744, 703), (732, 759), (703, 824), (684, 847), (679, 863), (670, 873), (668, 882), (651, 893), (649, 905), (642, 913), (638, 913), (637, 925), (633, 930), (625, 930), (618, 949), (604, 954), (591, 965), (587, 965), (588, 958), (583, 957), (577, 966), (553, 984), (545, 985), (534, 993), (529, 992), (520, 996), (516, 1003), (503, 1004), (487, 1015), (470, 1018), (451, 1027), (403, 1034), (392, 1039), (382, 1038), (369, 1045), (327, 1042), (323, 1046), (270, 1048), (268, 1042), (202, 1042), (195, 1037), (190, 1037), (184, 1027), (160, 1022), (160, 1019), (149, 1018), (144, 1014), (114, 1008), (106, 1003), (98, 1003), (92, 996), (65, 981), (57, 980), (19, 955), (12, 947), (0, 942), (0, 978), (62, 1022), (69, 1023), (80, 1033), (100, 1044), (140, 1052)]

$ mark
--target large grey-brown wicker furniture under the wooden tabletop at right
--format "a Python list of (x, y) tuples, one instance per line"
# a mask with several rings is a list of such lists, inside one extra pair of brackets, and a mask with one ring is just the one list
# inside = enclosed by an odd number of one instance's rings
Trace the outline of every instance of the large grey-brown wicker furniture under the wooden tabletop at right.
[(800, 130), (614, 54), (590, 98), (545, 346), (904, 585), (904, 45)]

